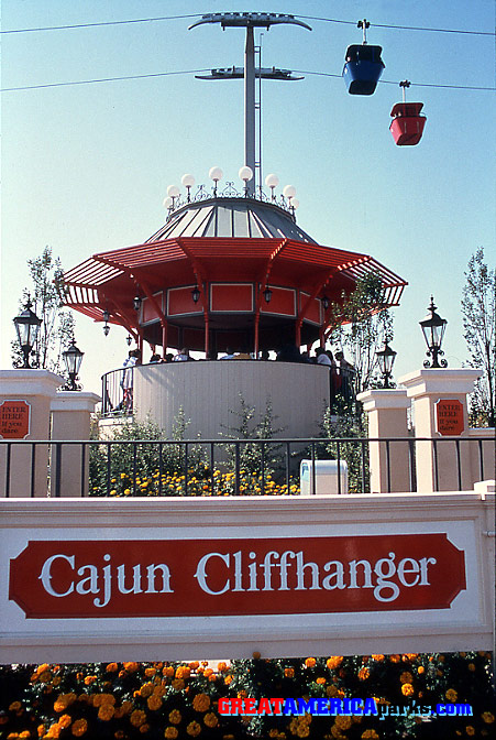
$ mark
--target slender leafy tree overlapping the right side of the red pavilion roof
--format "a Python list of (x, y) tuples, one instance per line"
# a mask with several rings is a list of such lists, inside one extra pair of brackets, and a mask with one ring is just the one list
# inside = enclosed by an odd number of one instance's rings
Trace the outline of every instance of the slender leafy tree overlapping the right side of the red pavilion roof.
[(376, 351), (384, 337), (393, 339), (393, 315), (384, 304), (384, 286), (376, 274), (357, 281), (350, 295), (332, 305), (330, 341), (342, 348), (354, 368), (354, 391), (378, 384)]

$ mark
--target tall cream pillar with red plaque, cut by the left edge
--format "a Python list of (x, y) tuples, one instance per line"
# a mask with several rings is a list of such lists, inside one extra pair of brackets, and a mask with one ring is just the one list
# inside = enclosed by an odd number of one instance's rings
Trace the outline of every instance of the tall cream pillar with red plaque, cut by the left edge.
[(49, 439), (52, 399), (63, 382), (48, 370), (0, 370), (0, 497), (47, 496), (48, 445), (23, 439)]

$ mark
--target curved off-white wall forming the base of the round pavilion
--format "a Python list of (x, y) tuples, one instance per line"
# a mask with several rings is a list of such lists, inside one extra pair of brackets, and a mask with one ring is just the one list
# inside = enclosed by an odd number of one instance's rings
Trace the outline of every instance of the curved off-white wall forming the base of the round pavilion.
[(146, 364), (134, 369), (134, 412), (150, 414), (170, 435), (183, 407), (186, 438), (198, 433), (218, 438), (227, 427), (239, 427), (240, 392), (255, 406), (254, 421), (265, 414), (271, 399), (278, 437), (319, 434), (323, 409), (329, 405), (329, 369), (323, 366), (255, 360), (218, 360)]

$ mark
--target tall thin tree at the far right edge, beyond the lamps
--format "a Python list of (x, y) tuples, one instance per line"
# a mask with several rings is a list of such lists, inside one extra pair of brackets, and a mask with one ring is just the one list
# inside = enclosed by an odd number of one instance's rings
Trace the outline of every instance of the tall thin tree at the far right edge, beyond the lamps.
[(495, 426), (496, 406), (496, 268), (484, 261), (480, 248), (469, 261), (462, 295), (464, 338), (469, 364), (484, 371), (472, 396), (472, 417), (476, 424)]

